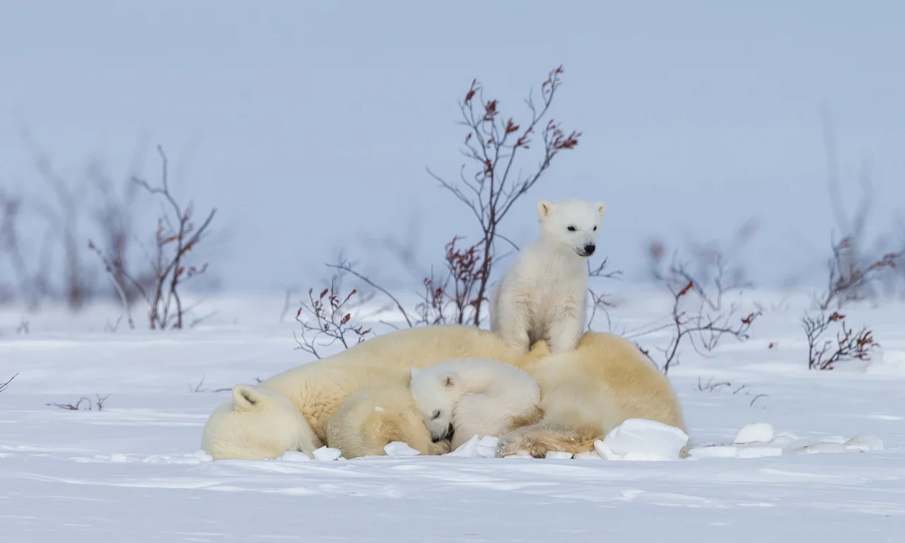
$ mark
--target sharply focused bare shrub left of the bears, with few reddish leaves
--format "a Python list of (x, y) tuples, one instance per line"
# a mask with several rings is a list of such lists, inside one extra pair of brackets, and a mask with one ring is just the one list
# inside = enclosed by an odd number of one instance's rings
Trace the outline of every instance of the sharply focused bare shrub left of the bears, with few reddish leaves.
[[(163, 199), (164, 210), (169, 208), (171, 213), (164, 211), (157, 218), (157, 231), (154, 233), (154, 249), (148, 255), (150, 259), (150, 273), (147, 276), (134, 277), (126, 271), (121, 259), (110, 260), (104, 252), (89, 240), (89, 249), (100, 258), (110, 281), (113, 282), (123, 305), (123, 311), (127, 315), (129, 328), (134, 328), (131, 319), (129, 291), (130, 285), (140, 294), (148, 306), (148, 324), (150, 329), (183, 329), (186, 326), (186, 316), (193, 309), (187, 307), (182, 300), (182, 286), (187, 281), (198, 277), (207, 270), (207, 264), (190, 264), (189, 253), (198, 243), (201, 243), (208, 233), (211, 221), (214, 220), (216, 209), (212, 209), (206, 215), (201, 224), (195, 224), (195, 207), (180, 205), (170, 192), (167, 155), (159, 145), (157, 154), (162, 163), (160, 186), (151, 186), (148, 181), (133, 177), (136, 185), (144, 188), (148, 194), (156, 195)], [(115, 254), (115, 252), (114, 252)], [(150, 278), (148, 280), (146, 277)], [(190, 323), (194, 325), (197, 319)]]

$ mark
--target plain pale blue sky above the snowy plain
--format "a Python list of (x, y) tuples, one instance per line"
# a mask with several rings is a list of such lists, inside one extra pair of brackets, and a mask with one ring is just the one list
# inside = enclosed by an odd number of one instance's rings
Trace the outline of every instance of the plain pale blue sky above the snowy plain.
[(559, 63), (553, 115), (584, 137), (509, 217), (519, 241), (538, 199), (577, 196), (607, 203), (599, 245), (629, 273), (651, 235), (728, 237), (749, 216), (755, 279), (813, 269), (831, 226), (822, 105), (849, 203), (866, 155), (873, 224), (905, 212), (898, 0), (0, 0), (0, 14), (0, 185), (40, 190), (19, 123), (68, 172), (94, 154), (123, 171), (147, 135), (180, 194), (229, 225), (212, 264), (231, 289), (305, 284), (343, 246), (380, 262), (363, 236), (412, 217), (425, 253), (473, 233), (424, 171), (458, 173), (456, 100), (477, 77), (521, 115)]

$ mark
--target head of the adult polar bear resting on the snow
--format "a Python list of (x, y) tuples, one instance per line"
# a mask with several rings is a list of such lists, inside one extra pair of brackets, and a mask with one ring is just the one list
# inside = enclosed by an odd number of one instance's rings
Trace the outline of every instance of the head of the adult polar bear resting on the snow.
[(249, 385), (233, 387), (233, 397), (214, 410), (201, 437), (201, 448), (214, 460), (273, 459), (286, 451), (311, 456), (322, 444), (289, 398)]

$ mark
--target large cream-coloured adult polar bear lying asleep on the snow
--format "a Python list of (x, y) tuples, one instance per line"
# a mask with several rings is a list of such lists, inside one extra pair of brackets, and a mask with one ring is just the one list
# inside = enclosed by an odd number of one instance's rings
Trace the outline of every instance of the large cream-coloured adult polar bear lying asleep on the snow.
[[(291, 450), (310, 454), (324, 443), (337, 446), (347, 457), (384, 454), (386, 443), (369, 435), (380, 431), (373, 415), (395, 414), (378, 409), (382, 405), (344, 402), (373, 401), (373, 395), (356, 393), (375, 387), (407, 395), (410, 367), (467, 357), (494, 358), (520, 367), (540, 386), (542, 418), (506, 434), (502, 454), (524, 451), (543, 457), (548, 451), (589, 451), (595, 439), (628, 418), (685, 430), (669, 382), (624, 338), (586, 332), (575, 350), (550, 354), (541, 341), (525, 354), (506, 346), (490, 330), (436, 325), (390, 332), (256, 386), (235, 386), (232, 398), (219, 405), (205, 424), (202, 448), (215, 460), (261, 460)], [(343, 416), (330, 420), (338, 411)], [(333, 426), (329, 436), (328, 421)], [(423, 453), (437, 453), (413, 445), (425, 441), (423, 423), (395, 430), (395, 441), (405, 441)], [(372, 439), (361, 442), (359, 435)], [(351, 448), (345, 446), (347, 442), (357, 443), (357, 450), (347, 452)], [(426, 442), (430, 443), (429, 436)]]

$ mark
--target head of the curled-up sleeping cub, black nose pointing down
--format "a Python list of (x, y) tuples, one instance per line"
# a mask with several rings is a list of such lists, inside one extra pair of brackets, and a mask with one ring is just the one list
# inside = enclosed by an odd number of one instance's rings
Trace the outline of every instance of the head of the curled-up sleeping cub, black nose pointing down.
[(414, 405), (418, 407), (418, 413), (431, 433), (431, 441), (437, 443), (452, 438), (452, 433), (455, 432), (452, 413), (464, 392), (462, 377), (454, 371), (436, 367), (413, 367), (411, 373), (409, 389), (414, 397)]

